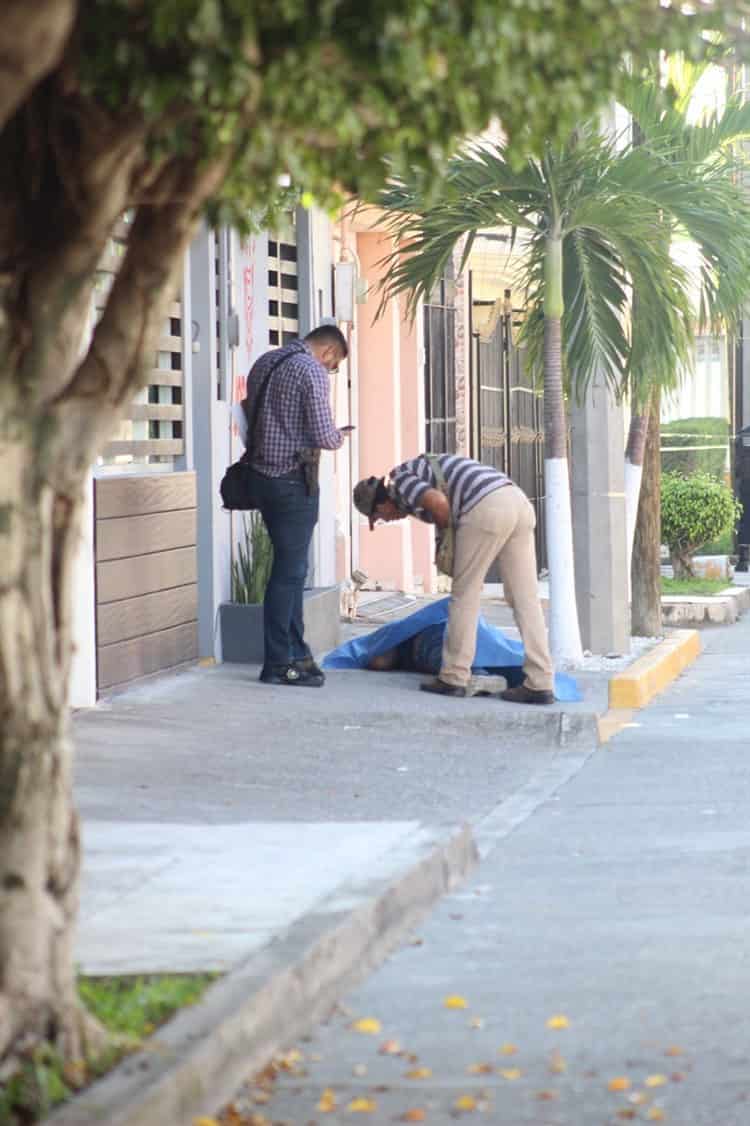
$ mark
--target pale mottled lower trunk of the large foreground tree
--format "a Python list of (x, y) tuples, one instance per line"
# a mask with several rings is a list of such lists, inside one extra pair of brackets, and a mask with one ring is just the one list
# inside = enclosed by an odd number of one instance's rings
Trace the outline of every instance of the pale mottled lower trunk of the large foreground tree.
[(96, 1027), (73, 969), (80, 841), (66, 708), (82, 503), (39, 479), (39, 435), (27, 428), (27, 440), (0, 444), (0, 1058), (50, 1040), (78, 1060)]

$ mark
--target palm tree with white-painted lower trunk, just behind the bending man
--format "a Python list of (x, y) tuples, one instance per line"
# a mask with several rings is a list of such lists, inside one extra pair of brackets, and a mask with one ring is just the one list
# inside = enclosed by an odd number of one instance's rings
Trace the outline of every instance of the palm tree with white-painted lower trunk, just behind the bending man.
[(392, 231), (408, 250), (392, 257), (385, 293), (407, 292), (412, 312), (461, 239), (464, 265), (480, 231), (509, 226), (514, 239), (526, 240), (523, 332), (544, 382), (550, 635), (557, 662), (577, 663), (582, 655), (565, 386), (583, 394), (598, 372), (618, 390), (626, 383), (635, 351), (627, 316), (632, 291), (654, 364), (661, 369), (686, 359), (688, 279), (661, 238), (663, 209), (678, 197), (684, 207), (690, 200), (698, 206), (677, 164), (664, 169), (634, 145), (618, 151), (596, 125), (586, 125), (521, 167), (509, 162), (502, 143), (473, 145), (450, 161), (439, 184), (402, 180), (381, 200), (394, 213)]

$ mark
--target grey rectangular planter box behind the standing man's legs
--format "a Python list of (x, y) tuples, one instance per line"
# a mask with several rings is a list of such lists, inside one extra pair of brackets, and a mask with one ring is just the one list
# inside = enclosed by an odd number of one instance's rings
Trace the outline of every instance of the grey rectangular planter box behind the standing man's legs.
[[(305, 641), (313, 654), (327, 653), (341, 641), (341, 615), (338, 587), (305, 590)], [(262, 664), (264, 608), (241, 602), (218, 607), (222, 660), (240, 664)]]

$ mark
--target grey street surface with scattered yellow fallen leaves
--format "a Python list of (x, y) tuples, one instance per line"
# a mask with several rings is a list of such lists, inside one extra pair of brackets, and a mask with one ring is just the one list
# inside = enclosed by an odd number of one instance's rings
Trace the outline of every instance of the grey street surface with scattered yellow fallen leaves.
[[(485, 834), (472, 883), (296, 1045), (270, 1101), (251, 1084), (240, 1108), (293, 1124), (748, 1126), (750, 620), (703, 641), (565, 786)], [(363, 1017), (375, 1035), (352, 1029)]]

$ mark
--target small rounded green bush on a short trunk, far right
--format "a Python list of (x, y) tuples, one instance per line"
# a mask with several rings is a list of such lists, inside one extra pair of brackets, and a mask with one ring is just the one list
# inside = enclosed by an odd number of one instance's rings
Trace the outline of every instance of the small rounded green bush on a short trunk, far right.
[(742, 507), (732, 490), (707, 473), (661, 479), (661, 538), (676, 579), (693, 577), (693, 556), (704, 544), (734, 528)]

